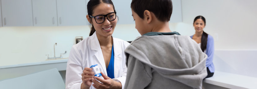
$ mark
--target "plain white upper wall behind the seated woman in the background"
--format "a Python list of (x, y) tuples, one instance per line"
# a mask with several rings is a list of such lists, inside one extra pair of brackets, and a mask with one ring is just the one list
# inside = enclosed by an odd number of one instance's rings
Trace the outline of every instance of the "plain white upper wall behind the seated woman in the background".
[(181, 0), (183, 23), (170, 23), (173, 31), (191, 36), (194, 18), (206, 18), (204, 31), (215, 39), (215, 49), (257, 49), (256, 0)]

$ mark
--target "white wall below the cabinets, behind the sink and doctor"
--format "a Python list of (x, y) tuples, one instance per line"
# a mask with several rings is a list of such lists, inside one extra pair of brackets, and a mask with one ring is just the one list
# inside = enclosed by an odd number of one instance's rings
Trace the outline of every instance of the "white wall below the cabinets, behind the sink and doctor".
[[(113, 37), (132, 41), (140, 34), (134, 24), (117, 25)], [(49, 57), (68, 57), (75, 37), (89, 36), (89, 26), (0, 27), (0, 66), (45, 61)], [(122, 34), (120, 34), (122, 33)]]

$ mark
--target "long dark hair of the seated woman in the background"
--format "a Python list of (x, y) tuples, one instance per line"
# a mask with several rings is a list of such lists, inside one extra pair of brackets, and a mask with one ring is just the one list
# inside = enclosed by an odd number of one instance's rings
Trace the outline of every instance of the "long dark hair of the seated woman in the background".
[[(204, 25), (206, 25), (206, 21), (205, 21), (205, 18), (203, 16), (200, 15), (200, 16), (195, 17), (194, 22), (197, 19), (202, 19), (203, 22), (204, 22)], [(203, 35), (202, 35), (202, 39), (201, 39), (201, 49), (202, 49), (203, 52), (207, 48), (207, 39), (208, 39), (208, 34), (203, 31)]]

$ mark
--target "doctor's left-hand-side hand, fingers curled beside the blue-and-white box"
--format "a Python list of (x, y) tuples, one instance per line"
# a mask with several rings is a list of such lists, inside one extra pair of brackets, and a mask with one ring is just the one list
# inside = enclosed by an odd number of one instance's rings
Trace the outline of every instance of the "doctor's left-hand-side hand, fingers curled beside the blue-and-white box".
[(91, 84), (92, 84), (92, 79), (91, 78), (94, 78), (94, 72), (92, 72), (92, 68), (88, 68), (86, 67), (84, 70), (83, 70), (83, 73), (81, 74), (82, 76), (82, 84), (81, 84), (81, 89), (89, 89)]

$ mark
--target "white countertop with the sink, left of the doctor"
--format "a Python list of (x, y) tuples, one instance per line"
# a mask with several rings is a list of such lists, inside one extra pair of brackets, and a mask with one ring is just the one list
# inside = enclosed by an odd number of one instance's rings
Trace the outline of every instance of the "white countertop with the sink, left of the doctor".
[(65, 71), (67, 67), (67, 61), (68, 58), (0, 66), (0, 81), (3, 79), (16, 78), (54, 68), (56, 68), (59, 72)]

